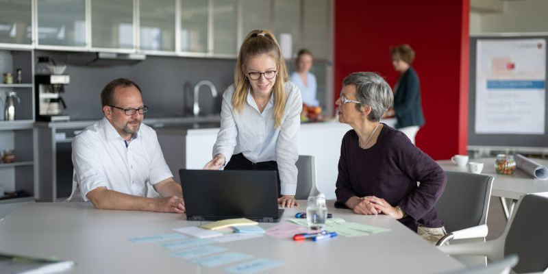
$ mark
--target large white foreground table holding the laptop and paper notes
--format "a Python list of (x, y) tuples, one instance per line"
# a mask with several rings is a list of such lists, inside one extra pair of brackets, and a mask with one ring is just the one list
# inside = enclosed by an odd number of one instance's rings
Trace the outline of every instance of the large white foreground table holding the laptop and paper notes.
[[(283, 219), (305, 211), (306, 201), (300, 202), (299, 208), (286, 209)], [(263, 236), (212, 245), (284, 262), (262, 273), (427, 274), (464, 269), (460, 262), (389, 216), (360, 216), (334, 208), (333, 201), (328, 203), (329, 212), (336, 218), (391, 230), (319, 242)], [(64, 273), (226, 273), (225, 267), (251, 260), (207, 268), (169, 256), (169, 250), (154, 243), (126, 239), (172, 234), (173, 228), (203, 223), (186, 221), (184, 214), (97, 210), (90, 203), (27, 203), (0, 221), (0, 252), (77, 262)], [(274, 225), (260, 223), (264, 229)]]

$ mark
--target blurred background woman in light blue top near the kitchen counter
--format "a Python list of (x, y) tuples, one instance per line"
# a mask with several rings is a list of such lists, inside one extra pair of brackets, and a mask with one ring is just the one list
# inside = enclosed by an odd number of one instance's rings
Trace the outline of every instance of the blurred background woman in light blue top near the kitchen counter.
[(318, 106), (316, 99), (316, 77), (310, 73), (312, 68), (312, 53), (308, 49), (301, 49), (297, 53), (297, 71), (291, 73), (290, 81), (297, 85), (303, 96), (303, 103), (308, 106)]

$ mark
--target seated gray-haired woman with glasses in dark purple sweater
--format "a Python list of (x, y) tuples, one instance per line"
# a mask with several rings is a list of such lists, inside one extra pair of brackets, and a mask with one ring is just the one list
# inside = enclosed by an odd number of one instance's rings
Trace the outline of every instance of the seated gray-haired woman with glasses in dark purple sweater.
[(445, 189), (445, 172), (405, 134), (380, 122), (393, 98), (376, 73), (351, 73), (343, 80), (336, 101), (339, 121), (353, 129), (340, 147), (335, 206), (393, 216), (435, 244), (446, 234), (434, 209)]

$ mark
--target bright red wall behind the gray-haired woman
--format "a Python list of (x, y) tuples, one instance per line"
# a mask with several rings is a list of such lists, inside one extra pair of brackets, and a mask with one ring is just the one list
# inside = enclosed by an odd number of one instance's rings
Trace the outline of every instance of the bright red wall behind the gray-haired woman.
[(394, 86), (391, 46), (409, 44), (426, 124), (416, 145), (435, 160), (466, 154), (469, 1), (335, 0), (335, 98), (343, 78), (375, 71)]

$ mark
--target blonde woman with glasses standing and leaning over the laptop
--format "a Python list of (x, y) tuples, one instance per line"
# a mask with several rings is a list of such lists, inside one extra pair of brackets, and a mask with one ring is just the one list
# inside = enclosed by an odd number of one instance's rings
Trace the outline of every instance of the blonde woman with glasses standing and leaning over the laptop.
[(225, 169), (277, 171), (278, 203), (298, 206), (295, 163), (302, 108), (301, 92), (288, 82), (274, 34), (249, 32), (240, 47), (234, 84), (223, 94), (213, 159), (203, 169), (218, 170), (226, 164)]

